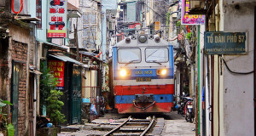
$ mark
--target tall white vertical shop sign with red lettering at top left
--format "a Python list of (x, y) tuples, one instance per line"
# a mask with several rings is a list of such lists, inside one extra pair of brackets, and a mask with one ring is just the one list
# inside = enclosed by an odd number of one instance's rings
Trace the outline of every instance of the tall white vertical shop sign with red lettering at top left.
[(66, 37), (67, 0), (48, 0), (47, 37)]

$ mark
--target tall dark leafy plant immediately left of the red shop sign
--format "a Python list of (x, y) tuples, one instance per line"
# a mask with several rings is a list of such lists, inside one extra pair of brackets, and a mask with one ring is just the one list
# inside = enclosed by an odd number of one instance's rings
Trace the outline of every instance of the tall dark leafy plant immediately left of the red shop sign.
[(40, 78), (40, 110), (42, 111), (43, 105), (47, 105), (46, 99), (49, 98), (50, 90), (54, 90), (58, 83), (58, 78), (49, 73), (49, 68), (44, 62), (41, 63), (40, 69), (42, 72)]

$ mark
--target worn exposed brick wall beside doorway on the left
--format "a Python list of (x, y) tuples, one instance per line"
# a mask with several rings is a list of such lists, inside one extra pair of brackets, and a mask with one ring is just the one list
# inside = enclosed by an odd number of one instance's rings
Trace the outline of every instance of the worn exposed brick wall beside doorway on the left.
[(26, 60), (27, 44), (12, 41), (12, 59), (20, 64), (18, 135), (26, 135)]

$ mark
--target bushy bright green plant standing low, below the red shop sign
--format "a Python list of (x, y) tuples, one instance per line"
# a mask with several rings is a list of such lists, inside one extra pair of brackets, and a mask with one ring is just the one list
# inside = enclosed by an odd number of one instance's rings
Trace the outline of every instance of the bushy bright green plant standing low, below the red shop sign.
[(61, 107), (64, 103), (60, 100), (63, 93), (60, 90), (50, 90), (47, 100), (47, 114), (49, 119), (56, 125), (59, 122), (66, 122), (64, 114), (61, 114)]

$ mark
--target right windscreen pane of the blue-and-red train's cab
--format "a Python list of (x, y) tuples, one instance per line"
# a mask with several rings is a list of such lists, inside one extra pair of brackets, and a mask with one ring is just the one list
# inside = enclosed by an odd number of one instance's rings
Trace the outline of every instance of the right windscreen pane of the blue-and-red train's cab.
[(168, 62), (168, 48), (146, 48), (146, 62)]

